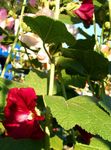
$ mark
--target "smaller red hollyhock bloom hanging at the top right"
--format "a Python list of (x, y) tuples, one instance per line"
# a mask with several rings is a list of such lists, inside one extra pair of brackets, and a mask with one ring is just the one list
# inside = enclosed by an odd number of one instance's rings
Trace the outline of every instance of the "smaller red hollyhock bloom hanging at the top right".
[(92, 0), (83, 0), (81, 6), (74, 10), (74, 13), (79, 16), (87, 26), (89, 26), (94, 13), (94, 5)]

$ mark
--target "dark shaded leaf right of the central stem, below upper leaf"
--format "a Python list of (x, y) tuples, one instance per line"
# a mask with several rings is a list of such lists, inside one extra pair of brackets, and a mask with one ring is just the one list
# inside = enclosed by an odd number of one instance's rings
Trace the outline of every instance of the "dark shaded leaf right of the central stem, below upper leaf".
[(108, 60), (95, 51), (81, 51), (75, 49), (62, 49), (63, 56), (77, 60), (93, 80), (101, 80), (108, 74)]

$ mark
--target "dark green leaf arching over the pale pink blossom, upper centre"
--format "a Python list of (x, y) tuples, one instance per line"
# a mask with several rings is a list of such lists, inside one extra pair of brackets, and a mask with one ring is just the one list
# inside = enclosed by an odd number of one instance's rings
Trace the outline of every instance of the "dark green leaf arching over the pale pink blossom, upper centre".
[(24, 17), (24, 22), (31, 28), (32, 32), (38, 34), (44, 43), (67, 43), (75, 44), (75, 38), (67, 31), (66, 26), (57, 20), (46, 16), (36, 18)]

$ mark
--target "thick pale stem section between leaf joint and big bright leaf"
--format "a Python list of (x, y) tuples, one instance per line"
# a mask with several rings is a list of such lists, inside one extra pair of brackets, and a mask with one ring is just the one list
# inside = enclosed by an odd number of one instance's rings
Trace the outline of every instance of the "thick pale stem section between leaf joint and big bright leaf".
[(50, 80), (49, 80), (49, 93), (48, 95), (53, 95), (53, 87), (54, 87), (54, 73), (55, 73), (55, 63), (52, 61), (50, 68)]

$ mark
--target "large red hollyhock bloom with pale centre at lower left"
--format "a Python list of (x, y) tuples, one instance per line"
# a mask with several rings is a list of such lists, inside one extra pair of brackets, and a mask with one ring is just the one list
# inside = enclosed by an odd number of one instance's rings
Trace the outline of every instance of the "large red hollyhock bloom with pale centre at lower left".
[(9, 90), (3, 121), (8, 136), (15, 139), (42, 139), (45, 136), (38, 122), (44, 120), (44, 117), (37, 115), (35, 111), (36, 99), (37, 96), (32, 88)]

